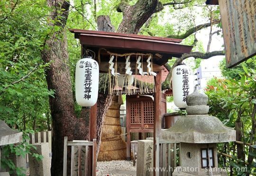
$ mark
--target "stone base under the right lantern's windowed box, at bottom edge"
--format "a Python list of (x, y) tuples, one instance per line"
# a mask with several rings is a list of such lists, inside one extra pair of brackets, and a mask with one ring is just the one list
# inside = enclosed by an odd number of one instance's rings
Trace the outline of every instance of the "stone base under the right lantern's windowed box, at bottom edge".
[[(182, 168), (179, 166), (174, 169), (173, 176), (209, 176), (209, 171), (206, 169), (199, 169), (195, 171), (189, 171), (188, 169), (189, 168)], [(225, 170), (217, 171), (218, 168), (212, 168), (212, 170), (212, 176), (228, 176), (228, 173)]]

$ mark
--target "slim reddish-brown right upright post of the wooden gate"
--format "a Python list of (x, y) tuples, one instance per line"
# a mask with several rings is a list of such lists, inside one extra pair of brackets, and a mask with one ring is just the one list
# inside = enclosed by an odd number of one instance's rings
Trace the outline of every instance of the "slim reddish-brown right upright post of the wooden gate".
[[(156, 138), (161, 139), (161, 94), (162, 94), (162, 72), (157, 72), (157, 75), (155, 77), (155, 101), (154, 101), (154, 160), (153, 160), (153, 167), (155, 168), (158, 164), (156, 163), (156, 154), (159, 155), (159, 153), (156, 153), (156, 151), (159, 151), (156, 147)], [(157, 173), (155, 173), (154, 170), (154, 176), (156, 176)]]

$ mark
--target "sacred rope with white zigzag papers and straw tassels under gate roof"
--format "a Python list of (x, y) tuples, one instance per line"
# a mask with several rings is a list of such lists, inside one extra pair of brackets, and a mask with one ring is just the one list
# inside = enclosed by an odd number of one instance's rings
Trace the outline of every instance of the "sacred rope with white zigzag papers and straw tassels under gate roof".
[[(106, 83), (109, 79), (109, 94), (113, 95), (114, 92), (119, 95), (121, 93), (125, 93), (127, 95), (136, 94), (136, 85), (138, 82), (138, 89), (140, 93), (152, 93), (155, 92), (155, 80), (154, 76), (156, 76), (156, 73), (153, 72), (153, 55), (151, 53), (114, 53), (106, 50), (105, 48), (100, 48), (98, 51), (98, 63), (101, 63), (101, 52), (104, 50), (110, 55), (110, 61), (109, 61), (109, 71), (108, 71), (108, 78), (106, 78), (105, 86), (104, 86), (104, 92), (106, 90)], [(131, 62), (130, 57), (134, 55), (136, 56), (136, 67), (135, 67), (135, 75), (132, 75), (131, 71)], [(95, 56), (95, 53), (94, 53)], [(143, 57), (147, 57), (146, 59), (146, 72), (143, 71)], [(156, 53), (155, 56), (162, 58), (162, 55)], [(125, 57), (126, 59), (126, 72), (125, 75), (122, 76), (118, 73), (118, 57)], [(114, 59), (115, 58), (115, 59)], [(138, 71), (137, 71), (138, 70)], [(137, 75), (141, 75), (141, 80), (137, 80)], [(121, 76), (120, 78), (118, 78)], [(146, 79), (143, 76), (147, 76)], [(119, 83), (120, 79), (123, 79), (123, 83)], [(152, 80), (153, 79), (153, 80)], [(135, 80), (135, 84), (133, 86)], [(151, 83), (152, 82), (152, 83)], [(120, 87), (119, 87), (120, 85)], [(125, 88), (125, 91), (123, 92), (123, 89)], [(120, 91), (121, 90), (121, 91)]]

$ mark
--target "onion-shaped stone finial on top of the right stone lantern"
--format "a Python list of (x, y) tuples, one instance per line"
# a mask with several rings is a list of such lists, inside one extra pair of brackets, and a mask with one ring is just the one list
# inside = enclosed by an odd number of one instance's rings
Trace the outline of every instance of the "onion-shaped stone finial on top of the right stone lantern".
[(199, 92), (197, 89), (186, 97), (187, 107), (186, 111), (189, 115), (192, 114), (208, 114), (209, 106), (208, 96)]

